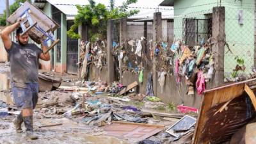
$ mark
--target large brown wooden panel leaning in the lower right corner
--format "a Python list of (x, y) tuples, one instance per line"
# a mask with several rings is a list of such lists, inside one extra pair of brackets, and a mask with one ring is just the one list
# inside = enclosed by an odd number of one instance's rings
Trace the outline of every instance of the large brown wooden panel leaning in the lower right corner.
[[(248, 102), (250, 98), (244, 92), (244, 84), (252, 81), (256, 79), (228, 84), (204, 92), (193, 136), (194, 144), (228, 141), (232, 134), (255, 116), (255, 110)], [(223, 108), (225, 104), (227, 108)]]

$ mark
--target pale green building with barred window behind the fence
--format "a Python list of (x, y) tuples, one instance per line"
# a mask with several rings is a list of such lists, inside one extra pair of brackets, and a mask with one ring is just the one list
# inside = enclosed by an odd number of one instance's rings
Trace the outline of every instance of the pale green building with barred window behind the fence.
[[(225, 6), (225, 76), (236, 68), (236, 57), (244, 60), (245, 73), (255, 65), (255, 1), (252, 0), (164, 0), (160, 6), (173, 6), (174, 39), (187, 45), (200, 44), (212, 35), (212, 8)], [(230, 51), (229, 51), (229, 49)]]

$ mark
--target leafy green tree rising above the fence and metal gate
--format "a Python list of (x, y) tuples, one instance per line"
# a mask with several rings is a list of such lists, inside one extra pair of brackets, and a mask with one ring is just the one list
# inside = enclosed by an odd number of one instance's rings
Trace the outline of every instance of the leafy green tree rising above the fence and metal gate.
[(75, 16), (74, 24), (67, 31), (70, 38), (80, 38), (74, 31), (81, 24), (85, 24), (90, 29), (91, 41), (95, 41), (96, 38), (104, 39), (106, 38), (108, 20), (129, 17), (139, 12), (138, 10), (128, 11), (129, 4), (136, 3), (137, 0), (127, 0), (120, 8), (115, 7), (115, 0), (110, 0), (109, 9), (104, 4), (95, 4), (93, 0), (88, 1), (89, 4), (85, 6), (76, 6), (78, 14)]

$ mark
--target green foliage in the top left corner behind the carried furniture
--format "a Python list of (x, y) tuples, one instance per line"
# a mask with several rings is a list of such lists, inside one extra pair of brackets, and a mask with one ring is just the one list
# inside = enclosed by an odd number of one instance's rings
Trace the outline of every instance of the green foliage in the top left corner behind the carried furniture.
[[(17, 10), (17, 8), (20, 7), (19, 3), (24, 3), (26, 0), (17, 0), (15, 3), (10, 5), (10, 15), (12, 15), (13, 12)], [(30, 2), (30, 0), (29, 0)], [(4, 10), (3, 16), (0, 17), (0, 26), (6, 26), (6, 10)]]

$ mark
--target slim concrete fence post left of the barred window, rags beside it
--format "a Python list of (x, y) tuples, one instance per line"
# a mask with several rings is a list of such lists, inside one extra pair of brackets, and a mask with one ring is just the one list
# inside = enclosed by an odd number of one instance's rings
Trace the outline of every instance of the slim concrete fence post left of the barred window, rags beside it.
[[(154, 42), (154, 48), (155, 51), (155, 45), (156, 42), (160, 42), (162, 38), (162, 13), (156, 12), (154, 13), (154, 19), (153, 19), (153, 42)], [(157, 95), (157, 71), (156, 71), (156, 58), (154, 56), (153, 58), (153, 89), (155, 95)]]

